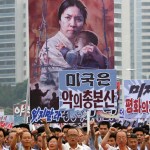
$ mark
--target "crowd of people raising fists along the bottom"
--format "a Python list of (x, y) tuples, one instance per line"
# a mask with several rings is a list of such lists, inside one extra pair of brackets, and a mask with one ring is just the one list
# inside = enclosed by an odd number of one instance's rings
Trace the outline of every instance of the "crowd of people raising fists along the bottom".
[(30, 131), (28, 124), (0, 128), (0, 150), (150, 150), (149, 126), (132, 128), (108, 121), (87, 127), (50, 127), (46, 118)]

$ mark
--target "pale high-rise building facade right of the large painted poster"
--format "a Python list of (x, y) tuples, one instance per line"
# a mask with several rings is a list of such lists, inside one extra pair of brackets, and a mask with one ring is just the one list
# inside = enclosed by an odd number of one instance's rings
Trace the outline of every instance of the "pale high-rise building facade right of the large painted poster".
[(115, 69), (119, 79), (150, 78), (150, 1), (114, 0)]

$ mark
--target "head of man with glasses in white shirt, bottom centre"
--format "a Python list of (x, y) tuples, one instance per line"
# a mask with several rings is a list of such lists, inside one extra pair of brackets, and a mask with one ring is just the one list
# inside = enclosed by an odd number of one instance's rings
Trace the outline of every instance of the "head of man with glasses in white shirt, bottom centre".
[(69, 145), (77, 145), (79, 140), (79, 131), (74, 127), (68, 129), (66, 138)]

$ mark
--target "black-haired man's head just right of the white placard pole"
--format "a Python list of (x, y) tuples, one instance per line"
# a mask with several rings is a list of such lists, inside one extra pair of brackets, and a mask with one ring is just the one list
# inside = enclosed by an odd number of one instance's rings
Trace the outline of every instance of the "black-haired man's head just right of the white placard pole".
[(98, 127), (101, 137), (103, 138), (110, 128), (110, 123), (108, 121), (101, 121)]

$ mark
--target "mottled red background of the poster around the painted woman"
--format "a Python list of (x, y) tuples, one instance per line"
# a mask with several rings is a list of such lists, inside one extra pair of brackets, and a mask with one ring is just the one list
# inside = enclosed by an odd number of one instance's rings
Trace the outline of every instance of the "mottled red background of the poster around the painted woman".
[[(29, 56), (30, 56), (30, 81), (33, 79), (33, 62), (38, 57), (37, 42), (39, 39), (39, 27), (42, 23), (42, 3), (47, 3), (45, 9), (47, 21), (47, 37), (50, 38), (59, 30), (57, 11), (63, 0), (29, 0)], [(103, 30), (103, 1), (106, 10), (106, 37), (109, 48), (110, 68), (114, 68), (114, 1), (113, 0), (81, 0), (87, 7), (88, 18), (84, 29), (95, 32), (99, 37), (99, 49), (107, 55)], [(45, 41), (45, 32), (41, 38), (41, 46)]]

